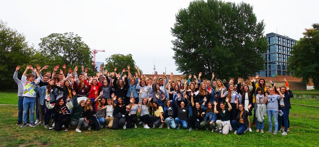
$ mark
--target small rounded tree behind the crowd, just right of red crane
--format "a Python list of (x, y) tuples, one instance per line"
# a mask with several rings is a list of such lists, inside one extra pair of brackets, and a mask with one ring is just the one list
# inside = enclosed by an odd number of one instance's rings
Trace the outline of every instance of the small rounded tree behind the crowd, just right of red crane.
[[(123, 69), (127, 70), (127, 65), (130, 65), (130, 72), (133, 76), (135, 75), (135, 72), (137, 72), (135, 69), (135, 61), (131, 54), (114, 54), (106, 58), (105, 61), (106, 64), (104, 65), (104, 70), (108, 70), (109, 72), (114, 71), (115, 67), (117, 67), (116, 72), (121, 73)], [(138, 70), (142, 73), (142, 70)]]

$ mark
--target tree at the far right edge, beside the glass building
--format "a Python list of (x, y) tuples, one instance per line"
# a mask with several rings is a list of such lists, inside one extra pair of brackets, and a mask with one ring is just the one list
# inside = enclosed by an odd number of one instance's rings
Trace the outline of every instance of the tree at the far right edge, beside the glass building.
[(288, 70), (294, 77), (302, 77), (302, 82), (309, 83), (311, 79), (316, 89), (319, 87), (319, 24), (305, 29), (303, 38), (292, 47), (293, 56), (288, 59)]

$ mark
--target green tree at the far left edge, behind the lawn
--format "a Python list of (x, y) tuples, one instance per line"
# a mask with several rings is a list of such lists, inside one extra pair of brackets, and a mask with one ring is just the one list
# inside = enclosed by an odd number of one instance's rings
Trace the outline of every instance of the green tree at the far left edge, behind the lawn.
[[(29, 62), (32, 49), (23, 34), (11, 29), (7, 23), (0, 20), (0, 89), (17, 87), (12, 75), (17, 65)], [(21, 70), (24, 70), (23, 68), (25, 67), (21, 66)]]

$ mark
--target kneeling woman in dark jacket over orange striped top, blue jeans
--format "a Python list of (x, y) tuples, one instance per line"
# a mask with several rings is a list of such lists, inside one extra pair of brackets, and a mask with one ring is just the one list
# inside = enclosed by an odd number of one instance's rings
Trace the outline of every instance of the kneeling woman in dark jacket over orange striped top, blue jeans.
[[(237, 101), (235, 102), (237, 103)], [(232, 120), (232, 127), (234, 128), (234, 134), (242, 135), (248, 128), (249, 116), (253, 115), (250, 110), (251, 104), (247, 106), (248, 111), (245, 111), (244, 104), (239, 104), (238, 109), (235, 107), (237, 112), (236, 119)]]

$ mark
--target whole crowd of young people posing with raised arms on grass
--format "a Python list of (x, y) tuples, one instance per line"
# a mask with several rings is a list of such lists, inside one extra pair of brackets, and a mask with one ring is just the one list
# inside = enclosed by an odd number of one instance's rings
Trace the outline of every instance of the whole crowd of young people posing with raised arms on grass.
[[(211, 80), (201, 79), (202, 73), (199, 73), (198, 79), (196, 75), (193, 78), (189, 75), (187, 81), (182, 77), (173, 81), (173, 73), (163, 73), (162, 78), (155, 71), (153, 77), (146, 77), (137, 66), (135, 68), (137, 72), (132, 75), (130, 66), (122, 73), (117, 73), (117, 68), (108, 72), (100, 67), (100, 72), (90, 76), (83, 66), (78, 74), (78, 66), (74, 70), (69, 68), (66, 73), (65, 64), (59, 72), (56, 65), (51, 74), (48, 65), (36, 68), (28, 65), (19, 80), (20, 66), (17, 66), (13, 75), (18, 84), (17, 125), (24, 128), (43, 124), (45, 129), (56, 131), (62, 128), (68, 131), (69, 126), (74, 126), (76, 132), (81, 132), (83, 128), (131, 129), (137, 128), (138, 123), (145, 129), (203, 129), (242, 135), (252, 132), (251, 125), (256, 125), (256, 132), (264, 133), (267, 114), (269, 130), (266, 133), (277, 135), (283, 130), (282, 135), (287, 135), (289, 131), (293, 93), (286, 79), (286, 86), (276, 87), (272, 81), (266, 86), (262, 78), (256, 83), (257, 75), (250, 79), (250, 88), (241, 78), (237, 85), (234, 78), (228, 82), (215, 80), (214, 73)], [(27, 74), (28, 70), (32, 73)], [(47, 71), (42, 75), (43, 70)]]

